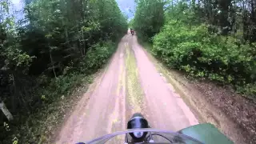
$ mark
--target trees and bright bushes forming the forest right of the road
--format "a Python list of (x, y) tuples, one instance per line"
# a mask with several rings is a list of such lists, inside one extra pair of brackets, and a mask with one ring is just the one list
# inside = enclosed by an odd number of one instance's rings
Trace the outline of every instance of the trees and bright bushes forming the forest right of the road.
[(255, 0), (137, 0), (130, 25), (170, 68), (256, 98)]

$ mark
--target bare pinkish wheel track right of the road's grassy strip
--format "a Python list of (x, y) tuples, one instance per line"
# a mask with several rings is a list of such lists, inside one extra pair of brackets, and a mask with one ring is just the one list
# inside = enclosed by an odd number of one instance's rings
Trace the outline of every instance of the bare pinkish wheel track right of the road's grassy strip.
[(154, 128), (162, 130), (181, 130), (198, 124), (194, 114), (186, 106), (173, 86), (158, 73), (147, 58), (136, 37), (130, 36), (130, 45), (134, 50), (138, 73), (146, 101), (146, 117)]

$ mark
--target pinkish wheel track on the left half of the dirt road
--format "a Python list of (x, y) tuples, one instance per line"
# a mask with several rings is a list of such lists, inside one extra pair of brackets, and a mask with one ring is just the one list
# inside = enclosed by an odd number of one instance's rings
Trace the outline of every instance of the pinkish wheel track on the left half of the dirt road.
[(87, 142), (125, 129), (125, 41), (126, 37), (122, 38), (97, 86), (78, 102), (54, 143)]

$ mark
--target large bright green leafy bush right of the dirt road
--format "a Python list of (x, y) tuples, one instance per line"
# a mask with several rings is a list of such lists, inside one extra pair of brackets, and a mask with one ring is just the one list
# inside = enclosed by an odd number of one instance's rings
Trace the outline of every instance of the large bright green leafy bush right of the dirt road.
[(255, 96), (254, 49), (236, 38), (209, 34), (206, 26), (172, 20), (154, 37), (152, 52), (167, 66), (194, 77), (242, 86), (246, 90), (239, 91)]

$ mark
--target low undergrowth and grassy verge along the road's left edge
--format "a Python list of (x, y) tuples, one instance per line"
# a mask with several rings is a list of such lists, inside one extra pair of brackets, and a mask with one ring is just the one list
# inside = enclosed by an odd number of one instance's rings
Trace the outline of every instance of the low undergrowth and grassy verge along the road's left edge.
[(13, 122), (0, 127), (5, 131), (1, 135), (2, 143), (50, 143), (72, 103), (86, 92), (93, 74), (108, 61), (115, 47), (113, 42), (97, 43), (77, 66), (66, 66), (64, 74), (57, 78), (39, 77), (33, 110), (22, 111), (14, 116)]

